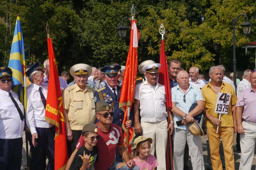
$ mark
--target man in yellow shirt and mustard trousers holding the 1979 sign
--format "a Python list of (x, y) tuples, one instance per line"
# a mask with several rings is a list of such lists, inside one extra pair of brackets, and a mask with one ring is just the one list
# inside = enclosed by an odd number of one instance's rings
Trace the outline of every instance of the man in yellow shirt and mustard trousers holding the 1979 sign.
[[(226, 170), (234, 170), (233, 140), (236, 132), (235, 105), (236, 94), (234, 88), (222, 81), (222, 70), (218, 67), (211, 67), (209, 76), (212, 81), (204, 86), (202, 90), (204, 105), (205, 124), (210, 145), (210, 154), (213, 170), (222, 170), (222, 162), (219, 154), (219, 139), (222, 137)], [(229, 99), (228, 114), (215, 113), (218, 93), (231, 94)], [(218, 133), (217, 126), (219, 126)]]

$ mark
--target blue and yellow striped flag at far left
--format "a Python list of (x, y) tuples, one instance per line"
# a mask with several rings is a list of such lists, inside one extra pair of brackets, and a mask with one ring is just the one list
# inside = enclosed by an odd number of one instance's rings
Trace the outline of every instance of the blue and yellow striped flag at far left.
[(19, 15), (16, 19), (8, 67), (12, 69), (12, 90), (17, 92), (21, 103), (26, 107), (27, 95), (25, 50)]

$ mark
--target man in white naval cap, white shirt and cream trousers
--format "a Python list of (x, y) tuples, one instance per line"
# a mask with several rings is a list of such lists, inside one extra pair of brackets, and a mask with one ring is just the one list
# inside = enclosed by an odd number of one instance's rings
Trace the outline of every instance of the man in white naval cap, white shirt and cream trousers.
[[(150, 154), (154, 155), (159, 163), (158, 169), (165, 170), (165, 152), (167, 144), (167, 112), (165, 87), (157, 82), (161, 64), (146, 64), (142, 72), (146, 81), (135, 87), (134, 94), (134, 123), (135, 131), (153, 139)], [(141, 124), (139, 123), (139, 104)]]

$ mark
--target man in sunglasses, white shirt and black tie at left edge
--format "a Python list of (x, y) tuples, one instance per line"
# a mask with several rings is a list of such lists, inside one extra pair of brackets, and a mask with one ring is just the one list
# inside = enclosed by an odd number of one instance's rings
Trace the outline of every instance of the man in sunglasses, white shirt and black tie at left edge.
[(12, 70), (0, 67), (0, 169), (19, 170), (22, 159), (24, 108), (11, 90)]

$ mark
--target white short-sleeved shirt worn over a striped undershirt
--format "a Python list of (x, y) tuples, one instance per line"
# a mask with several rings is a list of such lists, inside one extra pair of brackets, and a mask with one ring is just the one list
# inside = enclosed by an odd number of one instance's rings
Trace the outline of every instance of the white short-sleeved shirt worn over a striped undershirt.
[(166, 98), (163, 85), (156, 83), (156, 88), (153, 90), (146, 80), (136, 85), (134, 99), (140, 101), (141, 121), (156, 122), (166, 120)]

